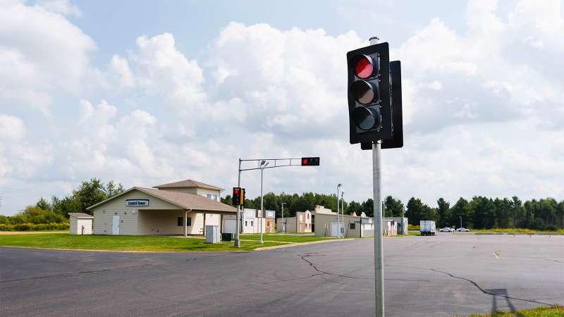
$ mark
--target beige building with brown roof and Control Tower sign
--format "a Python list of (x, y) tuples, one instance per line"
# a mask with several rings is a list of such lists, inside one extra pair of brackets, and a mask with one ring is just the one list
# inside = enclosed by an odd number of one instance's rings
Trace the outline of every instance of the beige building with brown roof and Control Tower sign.
[(132, 187), (87, 209), (97, 235), (205, 235), (206, 225), (235, 232), (237, 209), (219, 201), (221, 190), (194, 180)]

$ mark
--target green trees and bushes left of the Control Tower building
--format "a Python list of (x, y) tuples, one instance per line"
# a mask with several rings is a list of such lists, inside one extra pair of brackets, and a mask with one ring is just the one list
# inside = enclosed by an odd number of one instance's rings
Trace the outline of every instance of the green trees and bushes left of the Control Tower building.
[(51, 197), (48, 201), (43, 197), (33, 205), (29, 205), (14, 216), (0, 215), (0, 225), (47, 224), (68, 222), (68, 213), (88, 213), (87, 207), (99, 203), (124, 191), (121, 184), (92, 178), (81, 182), (66, 197)]

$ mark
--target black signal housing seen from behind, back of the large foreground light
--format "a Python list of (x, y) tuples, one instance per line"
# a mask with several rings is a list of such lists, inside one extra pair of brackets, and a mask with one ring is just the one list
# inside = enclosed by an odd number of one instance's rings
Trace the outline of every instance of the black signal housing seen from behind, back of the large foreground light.
[[(382, 140), (382, 149), (396, 149), (403, 147), (403, 117), (401, 100), (401, 63), (400, 61), (390, 62), (390, 100), (392, 104), (392, 129), (393, 137)], [(372, 149), (372, 142), (360, 144), (364, 150)]]

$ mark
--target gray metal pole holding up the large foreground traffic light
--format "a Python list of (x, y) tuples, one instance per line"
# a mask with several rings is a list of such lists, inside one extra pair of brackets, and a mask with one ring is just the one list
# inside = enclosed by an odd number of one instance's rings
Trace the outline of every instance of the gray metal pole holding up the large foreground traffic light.
[[(378, 37), (371, 37), (370, 44), (378, 44)], [(381, 141), (372, 144), (372, 181), (374, 185), (374, 299), (376, 317), (384, 317), (384, 247), (382, 242), (382, 197), (381, 197)]]

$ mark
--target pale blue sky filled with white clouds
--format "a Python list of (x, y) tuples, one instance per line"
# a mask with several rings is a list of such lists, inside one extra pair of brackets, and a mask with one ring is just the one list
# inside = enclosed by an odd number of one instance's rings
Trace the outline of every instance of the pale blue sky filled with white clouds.
[[(347, 51), (402, 63), (404, 147), (382, 192), (564, 199), (561, 1), (0, 0), (0, 213), (83, 180), (372, 197), (348, 142)], [(243, 166), (250, 167), (250, 166)], [(249, 197), (259, 171), (244, 172)]]

